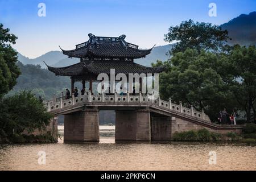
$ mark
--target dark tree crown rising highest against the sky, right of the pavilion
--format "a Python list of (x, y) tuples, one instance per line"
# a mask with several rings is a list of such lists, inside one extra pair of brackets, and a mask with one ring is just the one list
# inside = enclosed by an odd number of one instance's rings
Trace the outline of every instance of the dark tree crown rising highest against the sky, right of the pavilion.
[(220, 26), (211, 23), (195, 23), (191, 19), (181, 22), (179, 26), (171, 26), (164, 37), (166, 42), (177, 41), (170, 55), (184, 52), (187, 48), (196, 49), (199, 53), (201, 49), (218, 51), (228, 47), (224, 46), (224, 43), (229, 39), (228, 31), (222, 31)]

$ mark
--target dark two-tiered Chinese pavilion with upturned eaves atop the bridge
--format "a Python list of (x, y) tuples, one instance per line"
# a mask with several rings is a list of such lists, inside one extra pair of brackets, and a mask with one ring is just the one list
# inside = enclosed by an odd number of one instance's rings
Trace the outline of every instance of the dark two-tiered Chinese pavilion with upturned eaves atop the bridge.
[[(125, 35), (119, 37), (102, 37), (89, 34), (87, 42), (77, 44), (73, 50), (63, 50), (68, 57), (80, 58), (80, 63), (68, 67), (54, 68), (47, 65), (48, 70), (57, 76), (71, 77), (71, 90), (75, 81), (89, 81), (89, 90), (92, 92), (92, 83), (97, 80), (100, 73), (110, 74), (110, 69), (115, 69), (115, 74), (125, 73), (159, 73), (163, 68), (144, 67), (134, 63), (134, 59), (145, 57), (151, 49), (139, 49), (137, 45), (125, 41)], [(154, 47), (153, 47), (154, 48)], [(141, 86), (140, 86), (141, 88)]]

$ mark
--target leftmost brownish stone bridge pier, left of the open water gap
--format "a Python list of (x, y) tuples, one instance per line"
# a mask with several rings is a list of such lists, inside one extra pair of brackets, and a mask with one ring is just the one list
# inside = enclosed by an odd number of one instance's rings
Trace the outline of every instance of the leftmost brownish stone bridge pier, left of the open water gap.
[(98, 109), (85, 109), (64, 116), (64, 142), (98, 142)]

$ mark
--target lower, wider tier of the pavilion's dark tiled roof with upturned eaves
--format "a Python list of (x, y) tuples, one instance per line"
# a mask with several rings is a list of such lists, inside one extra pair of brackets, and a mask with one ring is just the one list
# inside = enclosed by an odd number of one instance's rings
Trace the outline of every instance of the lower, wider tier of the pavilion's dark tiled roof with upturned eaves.
[(110, 69), (115, 69), (117, 73), (159, 73), (163, 68), (144, 67), (143, 65), (134, 63), (133, 61), (113, 61), (113, 60), (92, 60), (82, 61), (68, 67), (55, 68), (47, 65), (48, 70), (60, 76), (82, 76), (88, 74), (110, 74)]

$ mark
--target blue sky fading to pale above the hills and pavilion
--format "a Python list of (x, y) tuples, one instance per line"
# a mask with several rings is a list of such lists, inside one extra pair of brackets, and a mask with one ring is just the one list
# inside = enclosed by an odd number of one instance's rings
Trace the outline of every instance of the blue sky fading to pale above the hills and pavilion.
[[(208, 15), (216, 3), (217, 16)], [(46, 4), (46, 17), (38, 4)], [(164, 34), (183, 20), (222, 24), (256, 10), (255, 0), (0, 0), (0, 23), (18, 36), (14, 45), (34, 58), (48, 51), (73, 49), (96, 36), (126, 35), (127, 42), (150, 48), (168, 44)]]

